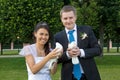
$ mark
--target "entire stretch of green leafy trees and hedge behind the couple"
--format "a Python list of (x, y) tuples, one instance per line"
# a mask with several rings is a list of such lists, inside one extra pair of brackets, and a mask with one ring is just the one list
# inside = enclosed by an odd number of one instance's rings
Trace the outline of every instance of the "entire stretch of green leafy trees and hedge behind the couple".
[(76, 7), (77, 24), (92, 26), (100, 41), (119, 42), (120, 0), (0, 0), (0, 42), (32, 42), (39, 21), (48, 22), (52, 34), (62, 30), (59, 11), (66, 4)]

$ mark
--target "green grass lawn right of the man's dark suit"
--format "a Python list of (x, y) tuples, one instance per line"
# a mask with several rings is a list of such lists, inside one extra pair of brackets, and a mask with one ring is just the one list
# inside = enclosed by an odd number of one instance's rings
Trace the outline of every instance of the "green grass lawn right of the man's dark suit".
[(120, 55), (96, 58), (102, 80), (120, 80)]

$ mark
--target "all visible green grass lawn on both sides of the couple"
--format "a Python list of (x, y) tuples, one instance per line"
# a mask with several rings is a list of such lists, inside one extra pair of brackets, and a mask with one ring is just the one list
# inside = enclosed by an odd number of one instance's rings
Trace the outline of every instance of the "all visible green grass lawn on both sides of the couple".
[[(120, 56), (106, 55), (95, 58), (102, 80), (120, 80)], [(59, 80), (60, 68), (52, 80)], [(23, 57), (0, 58), (0, 80), (27, 80), (26, 65)]]

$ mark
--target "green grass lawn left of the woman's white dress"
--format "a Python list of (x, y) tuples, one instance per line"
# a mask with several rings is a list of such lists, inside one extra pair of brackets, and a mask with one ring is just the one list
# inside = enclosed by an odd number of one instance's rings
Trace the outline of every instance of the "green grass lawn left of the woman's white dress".
[(23, 58), (0, 58), (0, 80), (27, 80)]

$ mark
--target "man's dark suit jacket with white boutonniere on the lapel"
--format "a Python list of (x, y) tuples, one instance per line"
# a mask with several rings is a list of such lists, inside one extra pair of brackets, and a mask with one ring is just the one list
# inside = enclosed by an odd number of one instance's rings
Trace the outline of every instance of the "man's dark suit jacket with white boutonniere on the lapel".
[[(85, 32), (88, 37), (82, 40), (80, 34)], [(65, 30), (58, 32), (54, 36), (55, 42), (62, 44), (64, 53), (61, 58), (59, 58), (58, 63), (62, 63), (61, 69), (61, 80), (72, 80), (72, 61), (66, 55), (66, 49), (68, 48), (68, 38)], [(83, 68), (84, 74), (88, 80), (101, 80), (99, 72), (94, 61), (94, 57), (101, 54), (101, 49), (98, 41), (92, 31), (88, 26), (77, 27), (77, 46), (80, 49), (84, 49), (85, 57), (79, 58), (80, 64)]]

